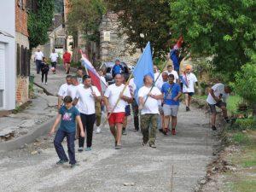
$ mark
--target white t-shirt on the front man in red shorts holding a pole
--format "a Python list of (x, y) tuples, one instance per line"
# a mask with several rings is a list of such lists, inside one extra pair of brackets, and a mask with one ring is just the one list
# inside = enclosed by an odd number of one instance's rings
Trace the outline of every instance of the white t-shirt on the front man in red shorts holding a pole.
[[(118, 101), (119, 96), (122, 90), (124, 90), (124, 88), (125, 88), (125, 84), (121, 84), (119, 86), (117, 86), (116, 84), (111, 84), (108, 86), (104, 96), (108, 97), (108, 104), (110, 108), (114, 107), (115, 103)], [(125, 88), (123, 95), (131, 98), (131, 93), (128, 86)], [(116, 108), (114, 108), (113, 113), (125, 112), (125, 105), (126, 105), (125, 101), (120, 99)]]

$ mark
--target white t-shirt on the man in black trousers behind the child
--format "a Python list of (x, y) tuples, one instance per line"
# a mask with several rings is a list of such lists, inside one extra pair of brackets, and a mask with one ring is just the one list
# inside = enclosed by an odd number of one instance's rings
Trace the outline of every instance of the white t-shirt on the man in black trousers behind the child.
[[(91, 86), (93, 92), (96, 96), (101, 96), (100, 91), (96, 86)], [(79, 112), (84, 114), (93, 114), (95, 113), (95, 98), (91, 94), (90, 88), (84, 88), (84, 86), (79, 86), (76, 94), (76, 98), (79, 99)]]

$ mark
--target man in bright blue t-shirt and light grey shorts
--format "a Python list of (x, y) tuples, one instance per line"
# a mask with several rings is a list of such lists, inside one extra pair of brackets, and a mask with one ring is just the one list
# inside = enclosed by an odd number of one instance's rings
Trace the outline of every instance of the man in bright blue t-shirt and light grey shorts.
[(170, 118), (172, 116), (172, 135), (176, 135), (177, 125), (177, 111), (179, 106), (178, 98), (182, 95), (179, 84), (174, 83), (174, 75), (168, 75), (168, 82), (163, 84), (161, 92), (164, 95), (163, 111), (165, 115), (165, 130), (163, 133), (166, 135)]

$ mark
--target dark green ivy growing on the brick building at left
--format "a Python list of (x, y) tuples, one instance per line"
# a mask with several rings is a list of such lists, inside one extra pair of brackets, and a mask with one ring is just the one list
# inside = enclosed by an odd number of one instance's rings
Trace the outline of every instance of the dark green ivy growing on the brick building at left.
[(52, 24), (54, 0), (38, 0), (36, 12), (29, 11), (27, 30), (30, 48), (48, 41), (48, 29)]

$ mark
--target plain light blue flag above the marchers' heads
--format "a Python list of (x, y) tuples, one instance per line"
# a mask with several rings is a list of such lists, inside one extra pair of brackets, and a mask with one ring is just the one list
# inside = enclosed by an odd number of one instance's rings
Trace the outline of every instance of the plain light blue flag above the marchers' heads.
[(143, 55), (140, 56), (137, 61), (137, 65), (133, 71), (134, 84), (136, 84), (135, 90), (135, 99), (138, 103), (138, 90), (143, 86), (143, 78), (145, 75), (150, 75), (154, 80), (154, 70), (153, 70), (153, 61), (152, 54), (150, 49), (150, 42), (148, 42), (147, 46), (143, 51)]

